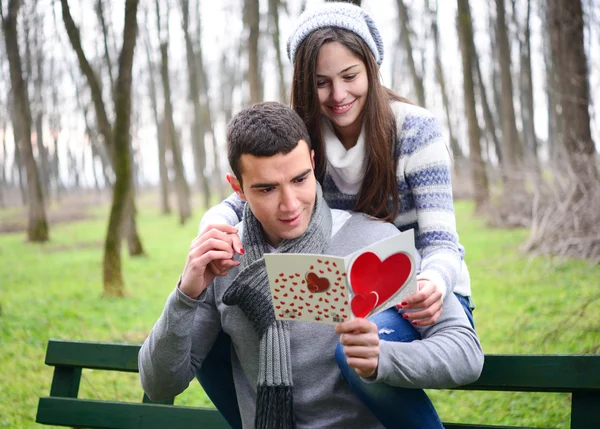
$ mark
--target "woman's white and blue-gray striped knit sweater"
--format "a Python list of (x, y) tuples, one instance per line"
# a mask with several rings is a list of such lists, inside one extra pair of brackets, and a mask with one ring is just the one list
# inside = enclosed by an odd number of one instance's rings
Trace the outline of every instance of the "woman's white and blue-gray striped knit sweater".
[[(415, 245), (422, 257), (419, 279), (431, 280), (444, 296), (447, 292), (470, 296), (471, 281), (464, 263), (464, 248), (456, 232), (450, 153), (440, 124), (432, 113), (421, 107), (402, 102), (393, 102), (391, 107), (396, 118), (396, 153), (399, 155), (396, 177), (400, 205), (394, 225), (401, 231), (414, 229)], [(333, 133), (324, 135), (326, 145), (336, 139)], [(341, 175), (332, 174), (334, 169), (329, 162), (322, 184), (325, 199), (331, 208), (352, 210), (357, 195), (340, 190), (344, 184)], [(244, 202), (233, 194), (206, 212), (200, 228), (211, 223), (236, 225), (243, 207)]]

